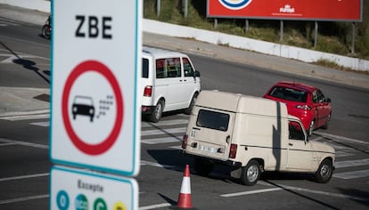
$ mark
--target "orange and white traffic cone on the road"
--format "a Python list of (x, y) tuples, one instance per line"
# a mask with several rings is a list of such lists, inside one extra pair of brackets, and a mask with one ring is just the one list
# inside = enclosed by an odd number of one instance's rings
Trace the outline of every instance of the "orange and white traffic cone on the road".
[(186, 165), (184, 170), (184, 179), (182, 180), (181, 192), (178, 196), (176, 206), (179, 208), (192, 208), (191, 202), (191, 181), (190, 181), (190, 166)]

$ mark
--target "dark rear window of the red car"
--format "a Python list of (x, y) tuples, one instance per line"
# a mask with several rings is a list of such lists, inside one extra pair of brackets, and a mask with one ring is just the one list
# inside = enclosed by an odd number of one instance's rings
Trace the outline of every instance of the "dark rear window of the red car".
[(307, 92), (290, 87), (275, 86), (269, 95), (286, 101), (307, 102)]

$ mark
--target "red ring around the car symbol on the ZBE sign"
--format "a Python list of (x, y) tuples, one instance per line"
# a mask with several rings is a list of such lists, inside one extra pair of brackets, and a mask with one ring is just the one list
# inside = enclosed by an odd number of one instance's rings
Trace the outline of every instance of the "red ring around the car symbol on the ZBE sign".
[[(71, 86), (74, 84), (79, 76), (88, 71), (95, 71), (109, 81), (113, 89), (115, 99), (117, 101), (117, 115), (115, 117), (115, 123), (111, 130), (111, 133), (106, 137), (105, 140), (97, 144), (88, 144), (78, 137), (77, 133), (75, 133), (70, 123), (70, 115), (68, 111), (68, 100), (70, 96)], [(114, 75), (111, 73), (111, 70), (99, 61), (84, 61), (79, 63), (78, 66), (71, 71), (70, 76), (67, 78), (67, 82), (64, 86), (64, 91), (62, 93), (61, 99), (61, 112), (62, 120), (65, 129), (67, 130), (67, 133), (70, 137), (70, 140), (79, 150), (86, 153), (87, 155), (100, 155), (106, 150), (110, 149), (114, 142), (117, 141), (120, 127), (123, 124), (124, 115), (123, 98), (120, 92), (119, 83)]]

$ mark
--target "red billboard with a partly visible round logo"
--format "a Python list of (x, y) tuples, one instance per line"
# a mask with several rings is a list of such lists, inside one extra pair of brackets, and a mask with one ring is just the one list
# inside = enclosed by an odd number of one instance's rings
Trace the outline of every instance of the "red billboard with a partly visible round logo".
[(208, 17), (362, 21), (363, 0), (208, 0)]

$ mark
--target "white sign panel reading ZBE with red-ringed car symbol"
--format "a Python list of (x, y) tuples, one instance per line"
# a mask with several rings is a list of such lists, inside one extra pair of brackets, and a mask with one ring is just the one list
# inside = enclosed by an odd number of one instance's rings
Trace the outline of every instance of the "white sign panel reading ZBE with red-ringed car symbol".
[(53, 163), (139, 171), (141, 1), (53, 1)]

